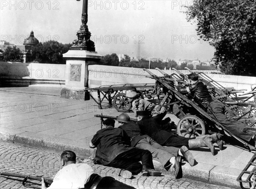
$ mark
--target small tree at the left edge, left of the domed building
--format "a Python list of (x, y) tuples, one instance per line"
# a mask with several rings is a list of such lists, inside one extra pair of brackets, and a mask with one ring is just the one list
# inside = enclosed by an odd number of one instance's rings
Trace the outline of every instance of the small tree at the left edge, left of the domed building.
[(0, 60), (5, 62), (23, 62), (23, 54), (16, 46), (8, 46)]

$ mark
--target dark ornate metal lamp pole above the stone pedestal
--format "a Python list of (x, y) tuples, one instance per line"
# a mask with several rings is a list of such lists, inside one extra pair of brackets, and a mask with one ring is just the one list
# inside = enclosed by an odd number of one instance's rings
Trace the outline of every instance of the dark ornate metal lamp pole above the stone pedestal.
[[(77, 0), (80, 1), (80, 0)], [(80, 30), (77, 31), (77, 40), (73, 41), (73, 46), (70, 50), (87, 50), (95, 51), (94, 42), (90, 40), (91, 33), (88, 30), (88, 0), (83, 0), (83, 11), (82, 11), (82, 25)]]

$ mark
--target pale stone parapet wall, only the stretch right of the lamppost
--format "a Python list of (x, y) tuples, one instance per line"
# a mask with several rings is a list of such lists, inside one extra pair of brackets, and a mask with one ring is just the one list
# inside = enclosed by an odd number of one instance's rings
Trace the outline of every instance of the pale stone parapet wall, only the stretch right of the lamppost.
[[(150, 69), (157, 76), (163, 76), (157, 70)], [(165, 70), (167, 74), (176, 73), (176, 71)], [(183, 74), (190, 74), (187, 70), (181, 70)], [(251, 90), (251, 85), (256, 84), (256, 77), (212, 74), (212, 71), (202, 71), (212, 80), (217, 81), (224, 87), (234, 87), (235, 89)], [(155, 80), (148, 78), (147, 72), (138, 68), (116, 67), (116, 66), (89, 66), (89, 86), (91, 88), (102, 85), (122, 84), (122, 83), (154, 83)]]

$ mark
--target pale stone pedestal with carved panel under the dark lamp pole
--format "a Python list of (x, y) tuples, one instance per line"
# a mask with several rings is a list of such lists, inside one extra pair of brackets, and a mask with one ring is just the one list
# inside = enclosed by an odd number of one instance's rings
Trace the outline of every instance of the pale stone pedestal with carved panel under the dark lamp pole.
[(65, 69), (65, 87), (61, 89), (61, 97), (90, 100), (88, 89), (88, 65), (97, 64), (102, 58), (97, 52), (86, 50), (69, 50), (63, 54), (67, 60)]

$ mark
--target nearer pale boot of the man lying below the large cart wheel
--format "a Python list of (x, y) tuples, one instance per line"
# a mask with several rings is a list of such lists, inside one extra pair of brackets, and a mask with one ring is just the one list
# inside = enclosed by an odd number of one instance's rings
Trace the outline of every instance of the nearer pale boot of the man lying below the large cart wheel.
[(212, 155), (214, 155), (215, 148), (212, 144), (212, 137), (207, 136), (205, 138), (195, 138), (189, 140), (189, 149), (199, 147), (208, 147), (211, 150)]

